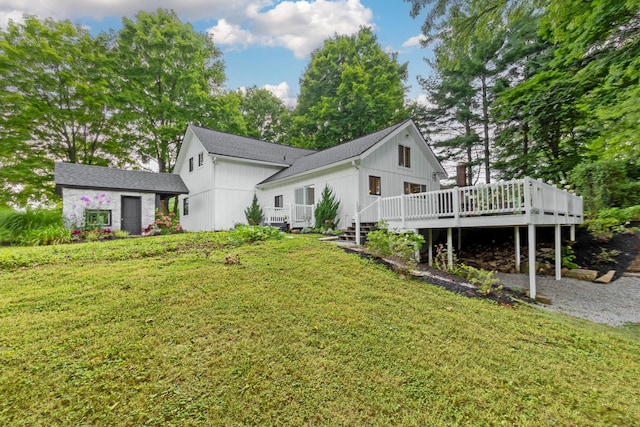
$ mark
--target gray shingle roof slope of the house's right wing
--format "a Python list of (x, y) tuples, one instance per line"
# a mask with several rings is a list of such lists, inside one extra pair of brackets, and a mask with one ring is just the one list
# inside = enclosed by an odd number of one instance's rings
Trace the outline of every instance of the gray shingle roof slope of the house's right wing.
[(308, 156), (302, 157), (291, 165), (290, 167), (281, 170), (280, 172), (271, 175), (269, 178), (262, 181), (260, 184), (266, 184), (268, 182), (277, 181), (283, 178), (297, 175), (299, 173), (312, 171), (314, 169), (328, 166), (333, 163), (338, 163), (347, 159), (351, 159), (360, 156), (365, 151), (382, 141), (387, 135), (404, 125), (407, 121), (389, 126), (388, 128), (379, 130), (369, 135), (362, 136), (349, 142), (345, 142), (335, 147), (327, 148), (323, 151), (318, 151)]

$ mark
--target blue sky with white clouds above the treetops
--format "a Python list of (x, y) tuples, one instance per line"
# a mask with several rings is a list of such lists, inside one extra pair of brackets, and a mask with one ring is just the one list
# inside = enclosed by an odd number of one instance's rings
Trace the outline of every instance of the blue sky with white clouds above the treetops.
[(410, 98), (418, 98), (418, 75), (431, 53), (420, 47), (421, 19), (409, 16), (402, 0), (0, 0), (0, 26), (23, 14), (69, 19), (93, 33), (121, 27), (123, 16), (159, 7), (208, 32), (222, 49), (229, 89), (266, 87), (289, 105), (310, 54), (333, 34), (352, 34), (371, 26), (384, 49), (409, 62)]

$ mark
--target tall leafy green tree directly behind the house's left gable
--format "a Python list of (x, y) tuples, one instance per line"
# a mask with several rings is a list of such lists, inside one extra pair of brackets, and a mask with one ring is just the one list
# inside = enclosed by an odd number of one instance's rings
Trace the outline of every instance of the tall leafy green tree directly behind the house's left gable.
[(238, 103), (223, 96), (220, 50), (174, 11), (124, 18), (116, 49), (121, 109), (142, 159), (155, 160), (160, 172), (172, 169), (188, 123), (232, 131), (244, 126), (226, 117)]

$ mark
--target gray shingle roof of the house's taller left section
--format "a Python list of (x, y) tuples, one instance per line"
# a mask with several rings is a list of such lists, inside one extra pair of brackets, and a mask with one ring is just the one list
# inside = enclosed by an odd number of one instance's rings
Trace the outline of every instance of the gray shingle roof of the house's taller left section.
[(297, 159), (316, 152), (194, 125), (189, 125), (189, 129), (195, 133), (207, 152), (214, 155), (291, 165)]

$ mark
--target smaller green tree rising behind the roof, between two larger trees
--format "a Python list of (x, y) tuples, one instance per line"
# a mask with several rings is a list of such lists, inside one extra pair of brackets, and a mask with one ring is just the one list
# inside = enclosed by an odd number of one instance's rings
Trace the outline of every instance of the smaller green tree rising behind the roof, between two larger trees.
[(271, 142), (285, 142), (291, 126), (291, 111), (267, 89), (252, 86), (238, 91), (246, 135)]

